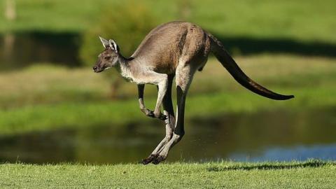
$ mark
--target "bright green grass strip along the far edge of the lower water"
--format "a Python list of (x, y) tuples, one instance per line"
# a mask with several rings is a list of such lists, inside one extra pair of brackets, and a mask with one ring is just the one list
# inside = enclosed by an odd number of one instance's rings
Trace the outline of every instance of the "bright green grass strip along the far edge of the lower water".
[[(318, 90), (318, 92), (316, 92)], [(315, 87), (293, 90), (296, 99), (274, 102), (249, 92), (225, 94), (200, 94), (189, 97), (186, 119), (207, 116), (223, 116), (225, 113), (248, 113), (276, 109), (300, 111), (302, 109), (330, 108), (336, 106), (333, 94), (336, 90)], [(321, 98), (323, 94), (323, 98)], [(148, 99), (148, 107), (154, 107), (155, 99)], [(17, 134), (64, 127), (94, 125), (123, 125), (146, 122), (151, 119), (139, 111), (137, 99), (121, 102), (85, 102), (24, 106), (20, 109), (0, 111), (0, 134)]]

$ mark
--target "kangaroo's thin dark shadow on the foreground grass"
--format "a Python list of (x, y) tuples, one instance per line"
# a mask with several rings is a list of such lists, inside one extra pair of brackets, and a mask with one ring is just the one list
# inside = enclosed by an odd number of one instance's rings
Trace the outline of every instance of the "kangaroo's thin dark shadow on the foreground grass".
[(266, 162), (266, 163), (241, 163), (241, 165), (229, 165), (225, 167), (214, 166), (208, 167), (208, 172), (224, 172), (230, 170), (269, 170), (269, 169), (295, 169), (295, 168), (314, 168), (314, 167), (323, 167), (325, 165), (336, 165), (336, 162), (323, 162), (320, 160), (309, 160), (307, 162)]

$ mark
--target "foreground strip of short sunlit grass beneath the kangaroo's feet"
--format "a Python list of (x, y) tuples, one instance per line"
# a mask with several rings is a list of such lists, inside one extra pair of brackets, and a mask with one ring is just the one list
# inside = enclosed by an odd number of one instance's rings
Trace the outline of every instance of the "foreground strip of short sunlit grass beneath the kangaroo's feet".
[(0, 165), (0, 188), (334, 188), (335, 162)]

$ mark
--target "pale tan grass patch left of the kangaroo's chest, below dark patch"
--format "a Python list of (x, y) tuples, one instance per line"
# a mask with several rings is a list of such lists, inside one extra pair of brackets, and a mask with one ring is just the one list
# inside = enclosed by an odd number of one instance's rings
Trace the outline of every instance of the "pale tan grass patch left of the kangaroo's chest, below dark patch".
[(0, 106), (11, 108), (46, 102), (102, 99), (109, 93), (109, 82), (89, 68), (38, 65), (1, 73), (0, 88)]

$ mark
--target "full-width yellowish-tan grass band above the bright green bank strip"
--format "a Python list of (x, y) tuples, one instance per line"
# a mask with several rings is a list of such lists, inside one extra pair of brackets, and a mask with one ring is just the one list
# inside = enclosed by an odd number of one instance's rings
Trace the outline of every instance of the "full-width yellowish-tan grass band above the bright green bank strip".
[[(312, 86), (332, 90), (331, 86), (336, 80), (336, 59), (290, 55), (258, 55), (235, 59), (253, 80), (280, 93), (296, 94), (297, 90), (309, 90)], [(93, 73), (90, 67), (69, 69), (52, 65), (36, 65), (1, 73), (0, 88), (0, 107), (3, 109), (36, 104), (106, 101), (109, 100), (110, 92), (109, 81), (102, 74)], [(253, 97), (216, 59), (211, 58), (204, 70), (195, 74), (189, 95), (216, 92), (238, 92)], [(146, 99), (153, 99), (156, 94), (153, 85), (146, 86)], [(120, 78), (117, 96), (136, 99), (137, 86)]]

